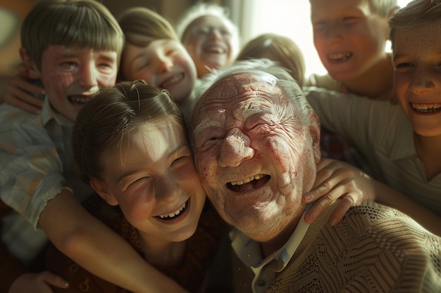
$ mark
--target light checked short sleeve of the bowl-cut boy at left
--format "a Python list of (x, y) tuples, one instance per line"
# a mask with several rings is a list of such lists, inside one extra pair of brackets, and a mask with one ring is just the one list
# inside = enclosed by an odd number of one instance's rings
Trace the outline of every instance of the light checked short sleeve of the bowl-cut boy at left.
[(60, 149), (37, 116), (11, 106), (5, 113), (6, 106), (0, 110), (0, 197), (37, 228), (47, 202), (66, 188)]

